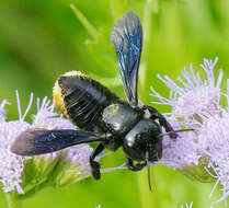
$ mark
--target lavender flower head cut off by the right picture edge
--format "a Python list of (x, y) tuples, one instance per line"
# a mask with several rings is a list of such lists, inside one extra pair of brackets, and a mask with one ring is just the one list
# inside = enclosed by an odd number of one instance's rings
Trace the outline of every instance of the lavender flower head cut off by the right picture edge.
[[(229, 82), (229, 81), (228, 81)], [(228, 95), (227, 95), (228, 96)], [(222, 109), (220, 115), (206, 118), (203, 123), (201, 141), (209, 161), (206, 171), (221, 185), (222, 197), (215, 201), (226, 200), (229, 196), (229, 112)]]

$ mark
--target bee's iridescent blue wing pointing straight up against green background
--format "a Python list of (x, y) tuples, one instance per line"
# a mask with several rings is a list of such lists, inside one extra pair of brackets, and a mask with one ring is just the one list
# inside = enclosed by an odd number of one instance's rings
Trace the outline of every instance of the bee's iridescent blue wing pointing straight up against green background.
[(134, 12), (124, 14), (114, 25), (114, 44), (124, 89), (130, 104), (138, 104), (137, 81), (142, 45), (142, 27)]

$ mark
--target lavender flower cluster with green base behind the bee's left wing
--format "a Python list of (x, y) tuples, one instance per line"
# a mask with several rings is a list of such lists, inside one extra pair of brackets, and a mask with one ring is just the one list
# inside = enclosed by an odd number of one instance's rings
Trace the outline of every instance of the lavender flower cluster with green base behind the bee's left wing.
[(33, 94), (31, 94), (24, 114), (21, 111), (18, 92), (16, 101), (19, 120), (7, 122), (5, 104), (9, 103), (3, 100), (0, 104), (0, 183), (2, 190), (26, 194), (37, 190), (44, 185), (62, 186), (90, 176), (89, 155), (93, 149), (88, 145), (79, 145), (36, 157), (21, 157), (10, 151), (14, 139), (27, 129), (76, 128), (69, 120), (54, 112), (54, 104), (47, 97), (42, 101), (37, 99), (37, 113), (33, 115), (32, 124), (25, 122), (25, 117), (32, 106)]

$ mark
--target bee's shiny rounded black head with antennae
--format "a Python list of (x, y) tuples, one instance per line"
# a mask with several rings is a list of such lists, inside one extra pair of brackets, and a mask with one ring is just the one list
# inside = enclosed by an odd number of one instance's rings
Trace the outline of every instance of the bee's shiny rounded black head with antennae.
[(162, 157), (161, 127), (158, 123), (141, 119), (126, 135), (124, 151), (127, 157), (136, 161), (154, 162)]

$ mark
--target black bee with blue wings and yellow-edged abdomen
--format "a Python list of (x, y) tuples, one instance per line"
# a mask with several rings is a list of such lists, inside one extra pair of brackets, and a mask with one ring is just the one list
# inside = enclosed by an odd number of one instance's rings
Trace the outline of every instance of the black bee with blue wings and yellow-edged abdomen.
[[(35, 155), (100, 141), (90, 157), (94, 178), (101, 177), (100, 163), (94, 159), (105, 148), (116, 151), (123, 147), (126, 166), (139, 171), (148, 165), (149, 173), (149, 163), (162, 157), (162, 127), (172, 139), (180, 130), (174, 131), (156, 108), (138, 106), (137, 81), (142, 45), (138, 16), (134, 12), (123, 15), (115, 24), (111, 39), (128, 102), (79, 71), (67, 72), (55, 83), (54, 100), (60, 112), (83, 130), (30, 129), (15, 139), (12, 152)], [(147, 111), (149, 116), (146, 116)]]

